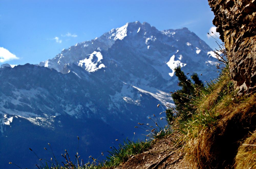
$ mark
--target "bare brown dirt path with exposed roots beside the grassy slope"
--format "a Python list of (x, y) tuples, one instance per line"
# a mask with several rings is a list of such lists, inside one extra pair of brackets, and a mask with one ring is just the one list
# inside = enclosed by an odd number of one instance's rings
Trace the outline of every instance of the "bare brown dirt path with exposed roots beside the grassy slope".
[(141, 154), (134, 155), (114, 169), (184, 169), (191, 168), (183, 159), (183, 153), (175, 147), (174, 135), (155, 140), (153, 147)]

